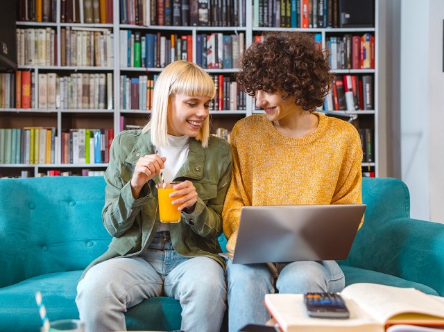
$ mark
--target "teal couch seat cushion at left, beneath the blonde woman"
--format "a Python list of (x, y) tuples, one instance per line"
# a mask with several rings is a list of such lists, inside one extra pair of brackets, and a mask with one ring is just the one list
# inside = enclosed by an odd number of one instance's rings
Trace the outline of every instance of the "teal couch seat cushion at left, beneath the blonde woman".
[[(42, 292), (49, 320), (78, 318), (76, 286), (83, 271), (57, 272), (27, 279), (14, 286), (0, 288), (1, 331), (39, 331), (42, 321), (35, 304), (35, 292)], [(182, 308), (175, 299), (155, 297), (129, 308), (129, 331), (180, 329)]]

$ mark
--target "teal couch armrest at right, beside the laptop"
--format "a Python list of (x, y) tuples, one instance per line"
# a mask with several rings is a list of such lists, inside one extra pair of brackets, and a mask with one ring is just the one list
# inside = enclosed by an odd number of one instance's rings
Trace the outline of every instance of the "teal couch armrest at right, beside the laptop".
[(397, 218), (368, 230), (358, 231), (343, 265), (423, 283), (444, 295), (444, 224)]

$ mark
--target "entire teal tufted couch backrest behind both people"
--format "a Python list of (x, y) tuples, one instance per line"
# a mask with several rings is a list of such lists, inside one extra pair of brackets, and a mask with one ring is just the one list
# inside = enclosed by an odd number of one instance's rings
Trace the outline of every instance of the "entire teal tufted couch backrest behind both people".
[[(111, 236), (101, 222), (103, 177), (0, 180), (0, 287), (40, 274), (82, 270), (105, 252)], [(364, 225), (346, 263), (377, 250), (386, 220), (409, 217), (409, 191), (397, 179), (363, 179)], [(219, 242), (225, 250), (226, 240)]]

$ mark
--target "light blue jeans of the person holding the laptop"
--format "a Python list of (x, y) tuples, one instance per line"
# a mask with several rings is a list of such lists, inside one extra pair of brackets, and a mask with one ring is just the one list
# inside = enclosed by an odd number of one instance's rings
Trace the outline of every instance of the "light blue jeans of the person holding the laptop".
[(228, 326), (237, 332), (246, 324), (265, 324), (271, 316), (266, 311), (266, 294), (340, 292), (344, 274), (335, 261), (278, 263), (279, 276), (271, 274), (266, 264), (227, 265)]

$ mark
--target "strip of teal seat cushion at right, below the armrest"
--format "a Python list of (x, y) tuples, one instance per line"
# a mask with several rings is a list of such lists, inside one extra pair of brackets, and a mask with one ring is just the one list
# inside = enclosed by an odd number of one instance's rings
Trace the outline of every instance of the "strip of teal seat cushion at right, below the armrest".
[(436, 290), (429, 286), (422, 285), (422, 283), (416, 283), (408, 281), (402, 278), (392, 276), (390, 274), (384, 274), (381, 272), (375, 272), (370, 270), (364, 270), (361, 268), (353, 268), (352, 266), (340, 265), (345, 274), (345, 286), (352, 283), (379, 283), (381, 285), (396, 286), (404, 288), (416, 288), (429, 295), (439, 295)]

